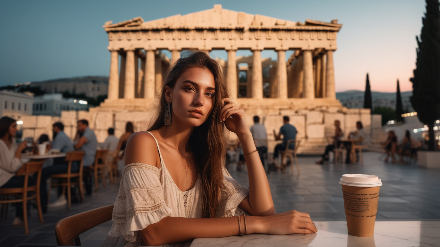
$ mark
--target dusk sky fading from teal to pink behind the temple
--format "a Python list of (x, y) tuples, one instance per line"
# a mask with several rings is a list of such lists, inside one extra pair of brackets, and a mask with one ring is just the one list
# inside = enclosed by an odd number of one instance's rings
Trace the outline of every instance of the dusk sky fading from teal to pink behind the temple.
[[(337, 92), (412, 90), (424, 0), (233, 0), (233, 1), (0, 1), (0, 86), (85, 75), (108, 76), (110, 52), (103, 29), (141, 16), (145, 21), (188, 14), (222, 4), (224, 9), (304, 22), (343, 24), (334, 52)], [(249, 51), (237, 52), (237, 56)], [(226, 52), (214, 56), (226, 58)], [(290, 53), (289, 53), (290, 55)], [(262, 56), (276, 53), (264, 51)]]

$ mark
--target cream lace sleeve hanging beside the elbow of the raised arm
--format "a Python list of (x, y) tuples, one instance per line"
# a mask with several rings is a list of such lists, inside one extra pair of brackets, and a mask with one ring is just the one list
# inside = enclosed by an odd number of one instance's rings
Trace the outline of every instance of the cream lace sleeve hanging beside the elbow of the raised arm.
[(225, 168), (217, 217), (232, 217), (243, 214), (244, 212), (238, 208), (238, 204), (240, 204), (247, 195), (249, 195), (249, 189), (235, 181)]

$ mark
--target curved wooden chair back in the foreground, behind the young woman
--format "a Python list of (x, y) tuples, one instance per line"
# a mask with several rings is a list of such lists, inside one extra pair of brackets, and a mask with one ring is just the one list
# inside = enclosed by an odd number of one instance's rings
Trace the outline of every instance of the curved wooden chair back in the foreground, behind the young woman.
[(97, 225), (110, 221), (113, 204), (77, 213), (59, 220), (55, 225), (55, 238), (58, 246), (80, 246), (80, 234)]

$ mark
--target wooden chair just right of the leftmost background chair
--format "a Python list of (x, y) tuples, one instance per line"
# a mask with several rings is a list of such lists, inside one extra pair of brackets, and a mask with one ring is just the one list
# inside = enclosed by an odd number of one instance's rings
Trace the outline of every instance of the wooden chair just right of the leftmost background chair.
[[(65, 188), (63, 188), (63, 191), (67, 191), (67, 203), (70, 209), (71, 206), (71, 193), (70, 193), (70, 185), (71, 184), (75, 184), (78, 186), (79, 191), (80, 191), (80, 197), (81, 197), (81, 202), (84, 202), (84, 190), (83, 190), (83, 157), (84, 157), (84, 151), (71, 151), (68, 152), (66, 155), (66, 159), (65, 161), (68, 162), (68, 166), (67, 166), (67, 173), (59, 173), (59, 174), (54, 174), (51, 176), (50, 182), (49, 182), (49, 193), (48, 193), (48, 202), (50, 200), (50, 190), (52, 187), (58, 187), (58, 186), (63, 186)], [(79, 171), (78, 172), (71, 172), (72, 169), (72, 162), (73, 161), (80, 161), (80, 167), (79, 167)], [(61, 179), (63, 182), (58, 182), (58, 183), (52, 183), (52, 179)], [(71, 181), (72, 178), (77, 178), (77, 181)]]

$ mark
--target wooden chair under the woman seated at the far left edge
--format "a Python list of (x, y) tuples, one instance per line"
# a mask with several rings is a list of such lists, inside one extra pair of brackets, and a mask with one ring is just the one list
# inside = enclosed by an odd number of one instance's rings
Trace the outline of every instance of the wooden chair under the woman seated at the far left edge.
[[(30, 199), (35, 199), (37, 201), (38, 216), (40, 217), (41, 225), (44, 224), (43, 213), (41, 212), (40, 203), (40, 181), (41, 181), (41, 170), (43, 168), (44, 160), (42, 161), (29, 161), (22, 165), (22, 167), (15, 173), (16, 176), (25, 176), (23, 187), (18, 188), (0, 188), (0, 194), (4, 195), (6, 198), (1, 200), (0, 203), (13, 203), (22, 202), (23, 203), (23, 222), (25, 225), (26, 234), (29, 233), (29, 226), (27, 221), (27, 201)], [(37, 183), (32, 186), (28, 186), (29, 175), (37, 172)], [(35, 193), (34, 195), (28, 196), (28, 192)], [(18, 199), (8, 199), (8, 196), (19, 197)]]

